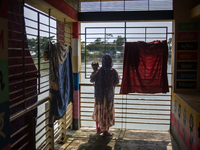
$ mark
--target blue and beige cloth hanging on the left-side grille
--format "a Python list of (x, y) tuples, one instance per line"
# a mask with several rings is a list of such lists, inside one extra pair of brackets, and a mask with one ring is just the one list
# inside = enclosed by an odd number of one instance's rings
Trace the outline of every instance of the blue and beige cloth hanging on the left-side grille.
[(49, 126), (62, 118), (69, 102), (73, 102), (73, 71), (71, 62), (71, 47), (60, 43), (48, 43), (43, 58), (50, 61), (49, 88), (50, 108)]

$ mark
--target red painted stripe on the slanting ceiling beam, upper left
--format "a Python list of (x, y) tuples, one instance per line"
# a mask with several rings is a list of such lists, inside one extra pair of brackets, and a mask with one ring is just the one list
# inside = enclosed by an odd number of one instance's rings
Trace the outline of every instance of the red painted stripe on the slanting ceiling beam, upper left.
[(56, 9), (60, 10), (73, 20), (78, 20), (78, 12), (63, 0), (44, 0)]

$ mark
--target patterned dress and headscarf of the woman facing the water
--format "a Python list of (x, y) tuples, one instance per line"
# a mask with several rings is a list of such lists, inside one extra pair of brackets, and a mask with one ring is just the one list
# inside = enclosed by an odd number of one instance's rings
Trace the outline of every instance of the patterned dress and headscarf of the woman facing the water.
[(91, 79), (91, 82), (95, 82), (95, 104), (92, 118), (98, 123), (101, 131), (108, 131), (109, 127), (115, 124), (114, 89), (119, 83), (119, 76), (112, 66), (111, 56), (104, 55), (102, 67)]

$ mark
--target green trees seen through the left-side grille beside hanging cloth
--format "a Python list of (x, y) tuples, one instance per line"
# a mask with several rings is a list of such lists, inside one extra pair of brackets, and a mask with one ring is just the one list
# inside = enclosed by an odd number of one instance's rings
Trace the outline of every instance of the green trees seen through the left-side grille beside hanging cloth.
[[(50, 37), (50, 41), (53, 44), (55, 43), (55, 41), (53, 41), (54, 37), (55, 36)], [(29, 47), (30, 51), (36, 50), (35, 53), (36, 53), (36, 56), (38, 56), (38, 37), (30, 38), (27, 40), (28, 40), (28, 47)], [(39, 42), (40, 42), (40, 56), (43, 56), (45, 46), (49, 42), (49, 37), (40, 37)]]

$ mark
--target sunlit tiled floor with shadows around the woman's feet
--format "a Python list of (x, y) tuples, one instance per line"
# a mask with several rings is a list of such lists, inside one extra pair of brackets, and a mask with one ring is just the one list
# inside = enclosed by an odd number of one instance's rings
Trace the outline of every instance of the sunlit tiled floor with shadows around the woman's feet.
[(169, 132), (110, 129), (113, 136), (95, 133), (95, 128), (67, 130), (65, 143), (55, 143), (56, 150), (178, 150)]

